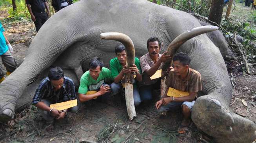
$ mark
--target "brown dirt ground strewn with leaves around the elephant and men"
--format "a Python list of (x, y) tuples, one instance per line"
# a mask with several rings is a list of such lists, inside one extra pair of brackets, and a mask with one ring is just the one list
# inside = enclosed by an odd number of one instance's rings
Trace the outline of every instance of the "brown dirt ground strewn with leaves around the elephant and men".
[[(244, 7), (247, 10), (247, 7)], [(249, 10), (249, 9), (248, 9)], [(8, 14), (0, 11), (0, 19)], [(27, 20), (3, 23), (5, 34), (13, 46), (13, 57), (18, 65), (24, 61), (31, 40), (36, 35), (34, 23)], [(231, 109), (234, 113), (256, 122), (256, 63), (251, 63), (251, 74), (243, 73), (242, 66), (226, 61), (233, 85)], [(154, 95), (160, 95), (158, 90)], [(181, 123), (180, 111), (169, 112), (162, 117), (154, 108), (159, 97), (150, 104), (136, 108), (137, 118), (129, 121), (124, 102), (113, 98), (108, 104), (96, 101), (79, 105), (79, 112), (69, 113), (67, 118), (56, 122), (54, 132), (45, 131), (45, 122), (30, 106), (16, 113), (15, 122), (0, 124), (0, 143), (52, 142), (77, 143), (85, 140), (113, 143), (200, 143), (202, 133), (191, 124), (185, 134), (178, 134)], [(32, 99), (31, 99), (32, 100)], [(117, 102), (117, 103), (116, 103)], [(211, 137), (208, 142), (214, 142)], [(202, 140), (201, 140), (202, 139)]]

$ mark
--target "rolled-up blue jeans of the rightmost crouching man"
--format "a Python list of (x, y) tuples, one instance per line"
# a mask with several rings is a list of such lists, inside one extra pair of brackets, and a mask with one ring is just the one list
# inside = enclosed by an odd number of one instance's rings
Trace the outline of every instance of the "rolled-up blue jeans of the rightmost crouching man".
[(162, 105), (158, 109), (158, 112), (165, 112), (165, 111), (169, 111), (169, 110), (180, 109), (183, 104), (186, 105), (187, 107), (189, 107), (189, 109), (191, 111), (194, 103), (195, 103), (195, 101), (192, 101), (192, 102), (189, 102), (189, 101), (185, 101), (185, 102), (170, 102), (167, 105)]

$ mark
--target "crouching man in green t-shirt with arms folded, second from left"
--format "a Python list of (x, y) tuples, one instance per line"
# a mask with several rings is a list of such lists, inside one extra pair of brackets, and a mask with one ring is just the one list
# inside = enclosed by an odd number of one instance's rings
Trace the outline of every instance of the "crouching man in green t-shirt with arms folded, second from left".
[[(106, 101), (111, 92), (111, 87), (105, 83), (110, 81), (113, 81), (110, 70), (103, 67), (100, 58), (93, 58), (89, 63), (89, 71), (86, 71), (80, 80), (78, 89), (80, 102), (92, 100), (97, 97)], [(87, 94), (88, 91), (92, 91), (92, 93)]]

